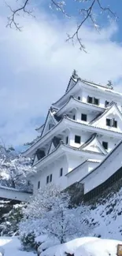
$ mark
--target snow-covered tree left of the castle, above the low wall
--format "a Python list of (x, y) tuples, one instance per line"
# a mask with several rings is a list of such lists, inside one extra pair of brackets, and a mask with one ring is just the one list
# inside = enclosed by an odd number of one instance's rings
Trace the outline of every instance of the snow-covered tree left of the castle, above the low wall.
[(30, 191), (31, 184), (28, 182), (28, 174), (34, 173), (31, 167), (31, 159), (17, 155), (12, 147), (0, 146), (0, 186), (19, 188)]

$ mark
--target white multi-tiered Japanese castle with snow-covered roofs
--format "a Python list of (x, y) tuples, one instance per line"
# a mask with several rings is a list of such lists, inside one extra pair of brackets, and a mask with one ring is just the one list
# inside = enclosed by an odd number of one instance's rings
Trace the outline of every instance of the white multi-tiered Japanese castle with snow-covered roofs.
[(85, 184), (84, 193), (92, 191), (116, 173), (111, 154), (115, 149), (118, 154), (122, 140), (122, 95), (110, 81), (82, 80), (74, 71), (65, 94), (50, 106), (36, 131), (39, 139), (24, 152), (37, 170), (30, 175), (34, 192), (50, 183), (65, 189), (78, 182)]

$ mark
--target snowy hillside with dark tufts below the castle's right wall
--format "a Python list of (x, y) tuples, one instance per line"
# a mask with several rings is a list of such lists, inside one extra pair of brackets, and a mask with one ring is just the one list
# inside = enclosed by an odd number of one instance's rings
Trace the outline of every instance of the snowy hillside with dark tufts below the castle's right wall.
[(90, 223), (94, 228), (93, 236), (122, 239), (121, 182), (122, 180), (109, 187), (110, 193), (104, 193), (103, 198), (99, 198), (99, 202), (91, 206)]

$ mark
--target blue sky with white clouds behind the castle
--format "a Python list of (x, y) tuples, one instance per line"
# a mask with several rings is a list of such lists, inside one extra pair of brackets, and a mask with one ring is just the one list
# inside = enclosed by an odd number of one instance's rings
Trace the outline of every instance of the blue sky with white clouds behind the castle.
[[(12, 0), (8, 1), (13, 4)], [(65, 43), (66, 33), (76, 28), (77, 17), (64, 20), (43, 6), (42, 0), (41, 5), (36, 5), (36, 19), (19, 17), (24, 28), (17, 32), (6, 28), (9, 9), (1, 0), (0, 139), (6, 145), (18, 147), (35, 138), (35, 128), (43, 124), (50, 104), (64, 93), (73, 69), (82, 78), (95, 82), (113, 80), (115, 89), (122, 91), (122, 2), (118, 0), (117, 5), (116, 0), (107, 2), (119, 21), (99, 18), (100, 33), (91, 26), (83, 26), (85, 54), (79, 51), (78, 45)], [(70, 5), (69, 11), (72, 10)]]

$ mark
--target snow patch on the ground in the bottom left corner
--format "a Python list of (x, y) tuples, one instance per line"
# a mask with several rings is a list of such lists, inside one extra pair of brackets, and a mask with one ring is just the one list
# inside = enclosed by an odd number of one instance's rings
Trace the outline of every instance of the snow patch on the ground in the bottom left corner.
[(32, 252), (21, 250), (17, 237), (0, 237), (0, 247), (5, 249), (5, 256), (35, 256)]

